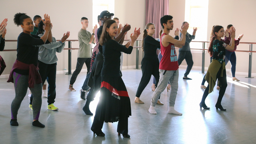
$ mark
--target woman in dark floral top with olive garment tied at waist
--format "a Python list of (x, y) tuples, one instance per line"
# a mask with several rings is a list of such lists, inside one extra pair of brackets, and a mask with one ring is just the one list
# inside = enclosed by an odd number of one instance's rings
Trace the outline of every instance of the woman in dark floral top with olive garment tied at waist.
[[(235, 28), (232, 28), (230, 30), (230, 44), (226, 44), (221, 39), (224, 37), (224, 28), (222, 26), (214, 26), (213, 33), (214, 37), (212, 37), (212, 40), (210, 41), (210, 46), (208, 48), (208, 52), (210, 53), (210, 56), (212, 57), (212, 62), (210, 63), (210, 66), (208, 68), (208, 71), (206, 73), (205, 79), (208, 82), (207, 88), (204, 90), (204, 94), (202, 97), (202, 101), (200, 102), (200, 108), (204, 109), (210, 109), (205, 104), (205, 99), (208, 96), (209, 93), (213, 91), (213, 88), (216, 84), (217, 78), (219, 79), (219, 86), (220, 86), (220, 92), (218, 101), (215, 105), (216, 109), (218, 108), (220, 110), (226, 111), (221, 105), (221, 100), (224, 96), (224, 93), (226, 91), (227, 87), (227, 78), (226, 78), (226, 68), (225, 68), (225, 54), (226, 50), (234, 50), (234, 38), (235, 38)], [(225, 50), (226, 49), (226, 50)]]

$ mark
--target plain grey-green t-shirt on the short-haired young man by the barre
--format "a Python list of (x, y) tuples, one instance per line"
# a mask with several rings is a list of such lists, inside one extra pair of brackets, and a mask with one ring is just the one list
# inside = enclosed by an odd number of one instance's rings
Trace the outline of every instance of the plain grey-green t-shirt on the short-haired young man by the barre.
[(91, 58), (92, 57), (92, 46), (89, 44), (92, 34), (87, 30), (81, 30), (78, 32), (78, 58)]

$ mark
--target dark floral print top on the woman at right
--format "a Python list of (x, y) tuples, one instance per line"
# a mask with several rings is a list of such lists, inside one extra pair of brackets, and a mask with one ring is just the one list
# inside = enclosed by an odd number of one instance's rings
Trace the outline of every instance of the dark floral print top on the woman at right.
[(218, 60), (221, 64), (225, 62), (227, 44), (218, 39), (215, 39), (212, 44), (212, 59)]

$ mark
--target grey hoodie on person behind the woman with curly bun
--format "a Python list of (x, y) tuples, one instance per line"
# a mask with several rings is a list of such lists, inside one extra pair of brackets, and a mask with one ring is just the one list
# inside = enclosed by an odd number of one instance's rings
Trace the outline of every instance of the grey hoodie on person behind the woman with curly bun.
[[(42, 37), (43, 34), (38, 36)], [(39, 46), (38, 60), (46, 64), (54, 64), (58, 61), (56, 52), (62, 52), (65, 47), (65, 42), (56, 42), (56, 39), (52, 37), (52, 42), (50, 44), (43, 44)]]

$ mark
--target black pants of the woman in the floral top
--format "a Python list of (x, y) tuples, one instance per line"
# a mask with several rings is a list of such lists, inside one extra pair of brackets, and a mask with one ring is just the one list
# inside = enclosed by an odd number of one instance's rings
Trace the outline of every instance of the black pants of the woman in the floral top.
[[(226, 88), (228, 86), (227, 84), (227, 75), (226, 75), (226, 70), (223, 71), (223, 77), (220, 76), (220, 72), (221, 72), (221, 68), (220, 70), (218, 71), (217, 73), (217, 76), (216, 76), (216, 80), (218, 78), (219, 80), (219, 84), (220, 84), (220, 92), (219, 92), (219, 97), (218, 97), (218, 101), (217, 101), (217, 105), (218, 104), (221, 104), (221, 101), (222, 101), (222, 98), (225, 94), (225, 91), (226, 91)], [(206, 97), (208, 96), (209, 94), (209, 84), (207, 86), (207, 88), (204, 90), (204, 94), (203, 94), (203, 97), (202, 97), (202, 101), (201, 103), (204, 104), (205, 103), (205, 99)]]

